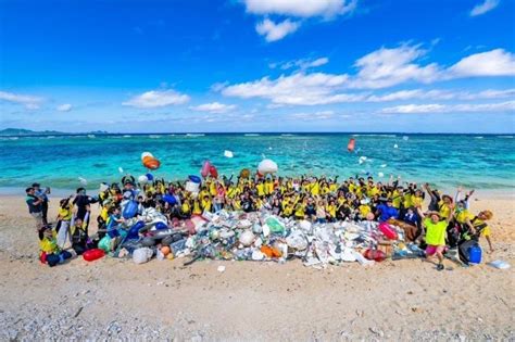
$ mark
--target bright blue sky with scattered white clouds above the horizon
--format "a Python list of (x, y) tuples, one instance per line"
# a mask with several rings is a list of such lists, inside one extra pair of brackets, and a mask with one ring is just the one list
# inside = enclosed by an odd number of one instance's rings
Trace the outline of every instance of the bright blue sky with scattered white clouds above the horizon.
[(515, 131), (514, 0), (0, 0), (0, 128)]

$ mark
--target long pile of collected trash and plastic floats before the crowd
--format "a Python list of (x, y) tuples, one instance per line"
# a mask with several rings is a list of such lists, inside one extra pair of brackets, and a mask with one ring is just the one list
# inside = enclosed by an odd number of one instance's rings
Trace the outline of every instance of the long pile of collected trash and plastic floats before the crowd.
[(305, 266), (324, 268), (341, 263), (369, 266), (387, 257), (424, 256), (416, 244), (405, 241), (400, 227), (373, 220), (313, 224), (267, 211), (221, 211), (168, 223), (150, 207), (126, 220), (118, 233), (116, 239), (105, 236), (99, 248), (111, 256), (131, 256), (137, 264), (154, 256), (187, 257), (185, 265), (203, 258), (277, 263), (300, 258)]

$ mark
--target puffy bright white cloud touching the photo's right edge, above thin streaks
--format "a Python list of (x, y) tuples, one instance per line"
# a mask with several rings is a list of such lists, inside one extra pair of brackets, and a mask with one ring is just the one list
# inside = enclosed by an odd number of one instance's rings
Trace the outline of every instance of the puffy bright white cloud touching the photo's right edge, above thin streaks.
[(472, 54), (448, 69), (448, 77), (514, 76), (515, 55), (503, 49)]

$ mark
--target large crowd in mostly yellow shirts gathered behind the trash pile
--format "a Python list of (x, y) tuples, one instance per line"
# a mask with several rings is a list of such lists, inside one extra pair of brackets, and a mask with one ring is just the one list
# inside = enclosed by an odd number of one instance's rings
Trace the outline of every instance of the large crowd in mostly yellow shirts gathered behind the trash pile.
[[(121, 204), (127, 200), (138, 202), (138, 213), (153, 207), (168, 221), (190, 218), (204, 213), (225, 211), (267, 211), (274, 215), (312, 223), (388, 221), (397, 219), (413, 227), (414, 240), (425, 248), (428, 258), (438, 257), (438, 269), (443, 268), (443, 254), (467, 240), (485, 237), (493, 251), (491, 231), (487, 221), (492, 218), (488, 210), (473, 214), (469, 201), (474, 190), (466, 193), (457, 189), (451, 197), (432, 189), (390, 177), (387, 182), (373, 177), (278, 177), (246, 175), (247, 177), (214, 178), (208, 176), (198, 192), (186, 190), (186, 181), (151, 179), (139, 183), (126, 175), (120, 183), (103, 183), (96, 195), (79, 188), (76, 194), (62, 199), (56, 225), (49, 225), (48, 194), (38, 183), (26, 189), (26, 203), (35, 217), (41, 241), (41, 259), (53, 266), (71, 257), (64, 249), (65, 237), (71, 237), (77, 254), (92, 243), (89, 238), (91, 205), (100, 205), (97, 218), (98, 237), (116, 237), (116, 227), (125, 218)], [(172, 199), (172, 200), (171, 200)], [(97, 204), (96, 204), (97, 203)], [(425, 207), (425, 203), (428, 203)], [(61, 232), (61, 233), (60, 233)], [(61, 238), (60, 238), (61, 237)]]

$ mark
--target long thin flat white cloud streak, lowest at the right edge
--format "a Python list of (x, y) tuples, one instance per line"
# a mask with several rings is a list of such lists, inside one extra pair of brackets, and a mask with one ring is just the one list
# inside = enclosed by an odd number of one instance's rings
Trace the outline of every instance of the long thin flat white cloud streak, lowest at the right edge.
[(515, 101), (476, 104), (404, 104), (385, 107), (384, 114), (426, 114), (426, 113), (474, 113), (474, 112), (514, 112)]

